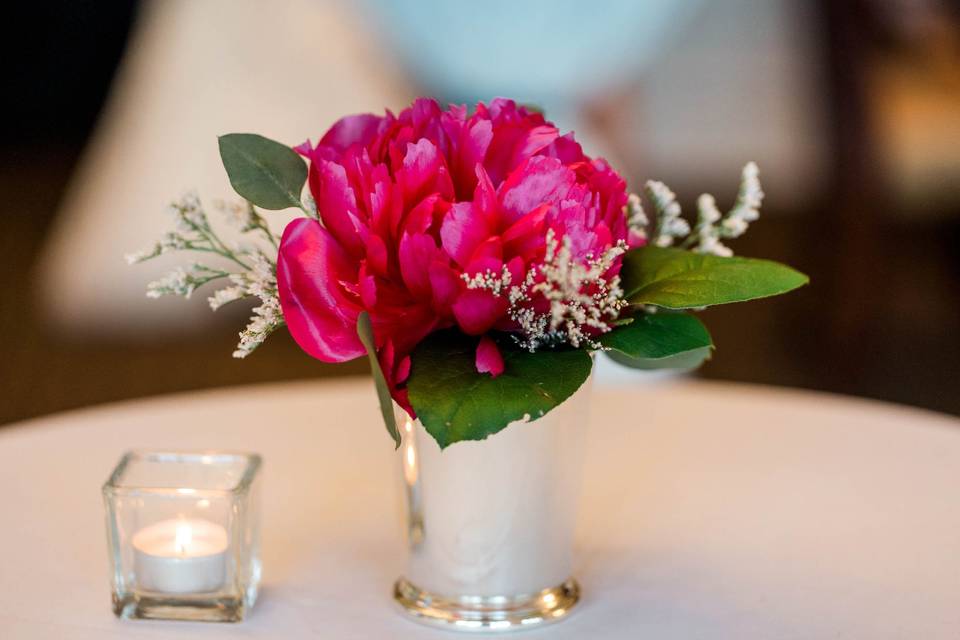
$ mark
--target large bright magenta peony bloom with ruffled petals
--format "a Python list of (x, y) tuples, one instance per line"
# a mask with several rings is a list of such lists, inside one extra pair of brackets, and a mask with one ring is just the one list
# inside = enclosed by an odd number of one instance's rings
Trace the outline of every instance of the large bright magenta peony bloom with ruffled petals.
[[(511, 100), (468, 115), (419, 99), (399, 116), (344, 118), (297, 151), (310, 161), (320, 221), (283, 233), (277, 280), (290, 333), (315, 358), (351, 360), (364, 354), (357, 316), (369, 312), (385, 376), (411, 414), (403, 382), (427, 335), (518, 330), (508, 296), (470, 278), (506, 271), (522, 282), (550, 230), (584, 264), (628, 235), (623, 179)], [(498, 375), (496, 344), (479, 346), (478, 369)]]

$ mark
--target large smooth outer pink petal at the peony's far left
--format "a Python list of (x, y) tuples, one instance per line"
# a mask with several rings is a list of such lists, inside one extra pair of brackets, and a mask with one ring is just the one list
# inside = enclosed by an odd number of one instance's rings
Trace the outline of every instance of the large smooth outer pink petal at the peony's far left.
[(316, 220), (287, 225), (277, 256), (277, 288), (290, 335), (324, 362), (344, 362), (365, 353), (357, 337), (360, 307), (340, 281), (356, 281), (355, 262)]

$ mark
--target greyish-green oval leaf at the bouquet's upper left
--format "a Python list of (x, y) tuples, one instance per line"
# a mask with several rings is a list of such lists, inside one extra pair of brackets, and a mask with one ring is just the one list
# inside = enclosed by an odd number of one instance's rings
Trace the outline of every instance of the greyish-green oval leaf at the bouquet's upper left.
[(254, 133), (228, 133), (218, 141), (234, 191), (263, 209), (303, 208), (307, 165), (296, 151)]

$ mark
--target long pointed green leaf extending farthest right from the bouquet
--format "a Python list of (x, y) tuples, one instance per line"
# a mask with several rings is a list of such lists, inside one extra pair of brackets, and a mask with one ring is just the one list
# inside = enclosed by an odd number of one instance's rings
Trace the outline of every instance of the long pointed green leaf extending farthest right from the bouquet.
[(809, 278), (786, 265), (754, 258), (722, 258), (682, 249), (640, 247), (620, 271), (631, 304), (692, 309), (786, 293)]

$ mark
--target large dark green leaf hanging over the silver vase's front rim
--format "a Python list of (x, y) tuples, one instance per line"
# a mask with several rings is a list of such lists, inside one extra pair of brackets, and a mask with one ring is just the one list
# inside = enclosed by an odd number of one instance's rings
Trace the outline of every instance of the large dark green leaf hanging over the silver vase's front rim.
[(525, 416), (536, 420), (569, 398), (590, 375), (582, 350), (536, 353), (501, 344), (504, 371), (478, 373), (477, 338), (440, 331), (412, 355), (407, 389), (417, 417), (440, 445), (483, 440)]

